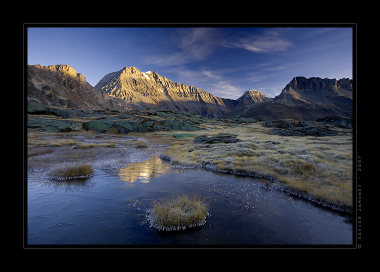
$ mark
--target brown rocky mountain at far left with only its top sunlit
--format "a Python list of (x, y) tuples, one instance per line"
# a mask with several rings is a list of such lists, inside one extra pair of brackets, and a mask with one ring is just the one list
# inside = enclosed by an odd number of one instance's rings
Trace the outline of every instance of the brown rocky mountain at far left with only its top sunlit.
[(69, 65), (27, 65), (27, 100), (59, 108), (130, 109), (120, 98), (92, 87)]

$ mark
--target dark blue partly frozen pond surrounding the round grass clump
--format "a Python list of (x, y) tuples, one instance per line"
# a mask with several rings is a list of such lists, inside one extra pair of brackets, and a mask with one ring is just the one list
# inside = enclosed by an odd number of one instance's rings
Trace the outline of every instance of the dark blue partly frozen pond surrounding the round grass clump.
[[(145, 207), (178, 193), (209, 201), (206, 223), (177, 231), (150, 227)], [(29, 173), (26, 238), (28, 246), (351, 245), (352, 216), (265, 189), (253, 177), (172, 168), (154, 156), (82, 180)]]

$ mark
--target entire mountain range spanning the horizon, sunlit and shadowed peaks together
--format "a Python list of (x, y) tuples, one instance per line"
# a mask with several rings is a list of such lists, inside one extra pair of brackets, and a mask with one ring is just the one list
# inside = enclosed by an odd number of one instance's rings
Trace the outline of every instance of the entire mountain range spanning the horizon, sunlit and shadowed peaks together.
[(328, 115), (352, 118), (352, 79), (294, 77), (274, 98), (247, 90), (228, 99), (133, 66), (104, 75), (93, 87), (69, 65), (28, 65), (27, 99), (60, 108), (156, 107), (208, 118), (315, 121)]

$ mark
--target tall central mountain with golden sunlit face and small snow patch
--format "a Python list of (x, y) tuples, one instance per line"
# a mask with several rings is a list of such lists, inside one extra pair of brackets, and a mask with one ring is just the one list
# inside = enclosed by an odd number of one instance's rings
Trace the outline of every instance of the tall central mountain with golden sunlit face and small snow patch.
[[(124, 99), (133, 108), (157, 107), (192, 112), (207, 118), (220, 117), (234, 110), (236, 103), (240, 102), (173, 82), (154, 71), (141, 72), (133, 66), (105, 75), (95, 87)], [(260, 95), (256, 95), (256, 100), (258, 97)], [(261, 93), (261, 97), (266, 96)], [(255, 102), (252, 98), (243, 98), (241, 100), (246, 104)]]

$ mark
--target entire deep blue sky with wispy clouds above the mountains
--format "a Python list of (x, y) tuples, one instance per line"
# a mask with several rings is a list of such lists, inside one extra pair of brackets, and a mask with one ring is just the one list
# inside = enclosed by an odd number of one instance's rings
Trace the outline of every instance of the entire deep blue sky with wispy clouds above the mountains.
[(294, 76), (353, 76), (352, 25), (33, 26), (27, 64), (68, 64), (92, 86), (130, 66), (231, 99), (250, 89), (274, 97)]

